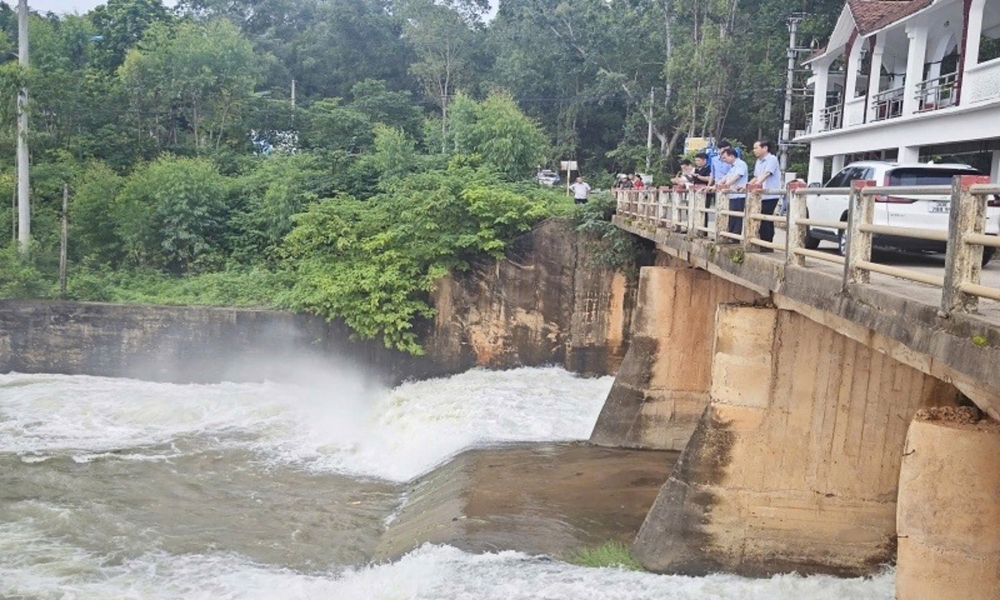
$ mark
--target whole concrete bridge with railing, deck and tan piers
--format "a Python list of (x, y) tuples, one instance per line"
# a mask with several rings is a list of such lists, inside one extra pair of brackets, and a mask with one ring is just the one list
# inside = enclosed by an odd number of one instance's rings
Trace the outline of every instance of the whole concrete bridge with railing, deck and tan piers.
[[(619, 192), (615, 224), (653, 241), (657, 266), (591, 441), (683, 451), (635, 542), (647, 567), (864, 574), (895, 560), (902, 600), (1000, 598), (1000, 267), (981, 267), (1000, 247), (984, 235), (1000, 188), (905, 191), (950, 194), (949, 230), (875, 224), (890, 193), (875, 182), (751, 189), (742, 212), (701, 189)], [(846, 220), (807, 218), (810, 194), (836, 192)], [(762, 213), (773, 193), (787, 216)], [(784, 234), (765, 242), (765, 221)], [(806, 248), (810, 226), (842, 231), (843, 255)], [(876, 262), (873, 234), (947, 253)]]

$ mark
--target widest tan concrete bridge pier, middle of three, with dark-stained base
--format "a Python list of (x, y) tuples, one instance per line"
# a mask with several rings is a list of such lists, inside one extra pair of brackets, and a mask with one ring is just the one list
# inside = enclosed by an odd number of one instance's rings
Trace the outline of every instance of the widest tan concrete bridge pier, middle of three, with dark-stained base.
[(870, 574), (895, 556), (916, 411), (957, 391), (798, 313), (718, 308), (711, 403), (633, 550), (691, 575)]

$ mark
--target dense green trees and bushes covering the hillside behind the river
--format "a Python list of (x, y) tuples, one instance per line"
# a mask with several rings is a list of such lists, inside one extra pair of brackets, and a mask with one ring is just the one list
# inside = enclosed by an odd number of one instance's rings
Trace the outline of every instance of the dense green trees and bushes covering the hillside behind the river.
[[(688, 135), (776, 131), (786, 14), (808, 40), (841, 5), (108, 0), (34, 14), (22, 70), (0, 2), (0, 195), (21, 86), (32, 151), (27, 253), (0, 203), (0, 298), (59, 294), (68, 184), (71, 298), (293, 307), (419, 351), (437, 277), (571, 212), (538, 167), (597, 183), (672, 169)], [(576, 226), (627, 269), (641, 248), (606, 209)]]

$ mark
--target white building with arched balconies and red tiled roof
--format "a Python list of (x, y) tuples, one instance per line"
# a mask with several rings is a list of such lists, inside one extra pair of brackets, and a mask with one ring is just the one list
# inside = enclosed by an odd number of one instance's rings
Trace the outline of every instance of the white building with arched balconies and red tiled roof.
[[(847, 0), (812, 69), (809, 181), (845, 158), (992, 152), (1000, 174), (1000, 0)], [(827, 163), (827, 161), (830, 163)]]

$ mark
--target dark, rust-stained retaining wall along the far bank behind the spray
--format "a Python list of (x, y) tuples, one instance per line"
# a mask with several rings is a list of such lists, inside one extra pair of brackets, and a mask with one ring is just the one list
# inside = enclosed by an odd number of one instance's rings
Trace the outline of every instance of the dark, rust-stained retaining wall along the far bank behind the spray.
[(636, 285), (590, 265), (559, 221), (516, 240), (508, 257), (446, 277), (437, 316), (418, 324), (427, 354), (351, 341), (342, 323), (274, 311), (0, 301), (0, 373), (171, 381), (280, 377), (303, 361), (352, 363), (388, 382), (482, 365), (559, 364), (614, 372), (627, 349)]

